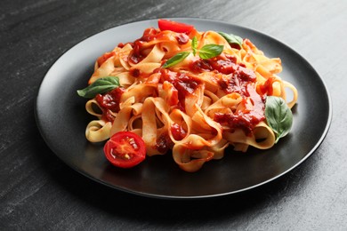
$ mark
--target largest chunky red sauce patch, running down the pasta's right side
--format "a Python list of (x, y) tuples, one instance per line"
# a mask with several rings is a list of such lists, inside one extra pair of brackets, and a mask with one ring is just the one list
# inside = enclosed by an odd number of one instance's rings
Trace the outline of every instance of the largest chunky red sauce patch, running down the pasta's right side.
[[(216, 114), (214, 121), (228, 123), (231, 129), (240, 128), (249, 135), (254, 126), (265, 118), (265, 98), (254, 89), (253, 83), (256, 82), (254, 71), (236, 62), (234, 56), (224, 54), (210, 60), (197, 60), (191, 64), (190, 68), (198, 73), (216, 71), (225, 75), (218, 80), (220, 88), (225, 93), (239, 93), (245, 99), (242, 103), (244, 107), (239, 108), (234, 114)], [(272, 82), (265, 84), (262, 87), (262, 92), (271, 92), (271, 84)], [(246, 101), (247, 98), (250, 99), (250, 102)]]

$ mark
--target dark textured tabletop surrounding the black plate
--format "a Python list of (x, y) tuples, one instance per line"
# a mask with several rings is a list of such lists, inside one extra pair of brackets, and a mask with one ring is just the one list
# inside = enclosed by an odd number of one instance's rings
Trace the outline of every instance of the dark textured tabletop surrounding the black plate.
[[(2, 1), (0, 229), (346, 230), (346, 12), (343, 0)], [(308, 60), (333, 103), (330, 130), (313, 155), (262, 187), (191, 201), (105, 187), (54, 155), (34, 116), (39, 85), (54, 61), (102, 30), (171, 17), (252, 28)]]

